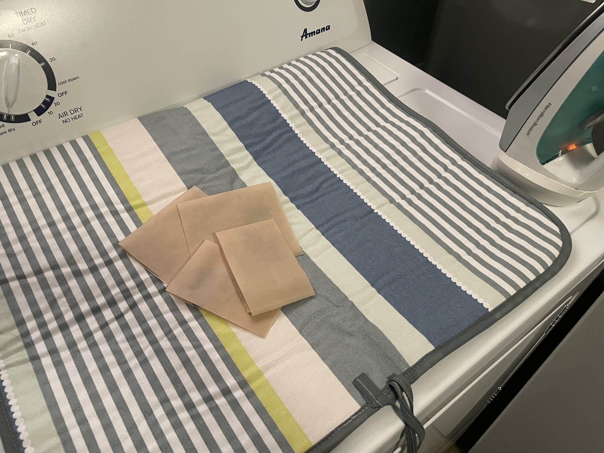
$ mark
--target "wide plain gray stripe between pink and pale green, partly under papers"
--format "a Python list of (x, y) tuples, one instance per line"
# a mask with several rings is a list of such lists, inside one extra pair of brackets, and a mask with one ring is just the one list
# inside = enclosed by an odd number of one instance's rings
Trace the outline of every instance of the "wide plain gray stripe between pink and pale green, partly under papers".
[[(139, 119), (187, 187), (190, 187), (188, 183), (194, 184), (206, 193), (245, 187), (237, 172), (188, 109), (155, 112)], [(178, 138), (175, 138), (175, 130), (178, 130)], [(205, 170), (193, 177), (191, 167), (214, 169), (220, 177), (207, 175)], [(364, 400), (352, 384), (356, 376), (362, 372), (374, 373), (370, 375), (376, 382), (385, 382), (385, 377), (393, 369), (402, 371), (408, 365), (384, 334), (359, 312), (312, 260), (304, 256), (300, 264), (315, 288), (315, 297), (284, 307), (283, 313), (349, 393), (362, 403)], [(324, 321), (316, 322), (316, 316), (321, 316)], [(311, 322), (313, 320), (315, 322)], [(353, 329), (350, 332), (362, 329), (365, 335), (346, 335), (353, 338), (355, 344), (349, 348), (335, 347), (341, 345), (343, 329)], [(394, 364), (394, 368), (391, 364)]]

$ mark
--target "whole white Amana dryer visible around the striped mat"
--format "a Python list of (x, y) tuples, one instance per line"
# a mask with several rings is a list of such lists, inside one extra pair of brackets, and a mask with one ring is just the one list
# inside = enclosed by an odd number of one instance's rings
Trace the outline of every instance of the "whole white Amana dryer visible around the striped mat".
[[(504, 119), (371, 42), (362, 0), (4, 0), (0, 31), (1, 48), (17, 42), (37, 63), (20, 68), (20, 89), (31, 97), (0, 121), (0, 162), (181, 106), (333, 46), (352, 53), (484, 164), (494, 167), (500, 151)], [(2, 89), (6, 108), (16, 87)], [(421, 452), (443, 452), (457, 439), (604, 268), (603, 202), (600, 192), (551, 207), (573, 242), (564, 268), (413, 384), (415, 412), (426, 427)], [(395, 451), (402, 428), (394, 411), (382, 408), (336, 451)]]

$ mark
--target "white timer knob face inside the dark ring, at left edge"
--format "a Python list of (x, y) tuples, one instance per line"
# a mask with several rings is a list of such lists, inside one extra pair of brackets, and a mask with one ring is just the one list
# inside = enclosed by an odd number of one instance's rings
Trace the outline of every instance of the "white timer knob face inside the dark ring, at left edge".
[(0, 113), (32, 112), (47, 91), (48, 81), (40, 63), (20, 50), (0, 48)]

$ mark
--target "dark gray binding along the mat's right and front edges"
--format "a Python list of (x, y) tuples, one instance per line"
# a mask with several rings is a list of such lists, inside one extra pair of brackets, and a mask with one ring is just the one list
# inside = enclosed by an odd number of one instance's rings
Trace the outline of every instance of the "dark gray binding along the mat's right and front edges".
[[(551, 277), (557, 274), (557, 272), (562, 269), (562, 266), (567, 262), (568, 257), (571, 252), (572, 243), (570, 233), (564, 223), (561, 222), (554, 214), (548, 210), (544, 205), (536, 201), (532, 196), (524, 193), (524, 191), (520, 190), (518, 187), (513, 185), (511, 182), (507, 181), (503, 176), (498, 175), (489, 167), (480, 162), (477, 158), (472, 156), (466, 150), (464, 150), (461, 146), (459, 146), (447, 133), (445, 133), (439, 126), (432, 123), (432, 121), (427, 118), (422, 117), (422, 115), (417, 114), (410, 108), (408, 108), (405, 104), (403, 104), (399, 99), (394, 97), (394, 95), (385, 88), (384, 85), (379, 83), (373, 75), (364, 66), (361, 65), (354, 57), (352, 57), (349, 53), (342, 50), (338, 47), (332, 47), (332, 50), (337, 51), (347, 60), (349, 60), (352, 65), (355, 66), (366, 78), (373, 84), (373, 86), (378, 89), (385, 97), (387, 97), (394, 105), (398, 108), (402, 109), (407, 115), (415, 118), (417, 121), (425, 124), (429, 128), (432, 129), (434, 133), (439, 135), (449, 146), (452, 147), (462, 158), (466, 159), (466, 161), (473, 164), (475, 167), (480, 169), (482, 172), (489, 175), (491, 178), (495, 179), (495, 181), (499, 182), (503, 187), (506, 187), (508, 190), (516, 193), (519, 197), (525, 199), (530, 204), (534, 205), (539, 211), (541, 211), (545, 216), (548, 217), (560, 230), (560, 234), (562, 237), (562, 247), (560, 249), (560, 253), (554, 259), (554, 262), (551, 263), (550, 267), (545, 269), (542, 274), (540, 274), (537, 278), (530, 283), (526, 284), (524, 288), (520, 291), (515, 292), (512, 297), (507, 298), (506, 301), (499, 304), (495, 309), (491, 310), (486, 315), (482, 316), (479, 320), (475, 321), (474, 324), (464, 329), (462, 332), (455, 335), (453, 338), (449, 339), (439, 347), (435, 348), (425, 356), (423, 356), (419, 361), (417, 361), (413, 366), (407, 368), (403, 373), (400, 373), (398, 376), (402, 376), (406, 378), (406, 381), (413, 383), (417, 381), (417, 378), (420, 377), (423, 373), (425, 373), (429, 368), (437, 364), (443, 357), (449, 355), (455, 349), (460, 347), (462, 344), (467, 342), (469, 339), (474, 338), (474, 336), (478, 335), (478, 333), (483, 332), (489, 326), (495, 324), (495, 321), (502, 318), (504, 315), (512, 311), (515, 307), (517, 307), (520, 303), (526, 300), (533, 292), (539, 289), (542, 284), (546, 281), (550, 280)], [(362, 376), (362, 375), (361, 375)], [(359, 376), (360, 377), (360, 376)], [(358, 378), (357, 378), (358, 379)], [(356, 379), (355, 379), (356, 381)], [(356, 385), (355, 385), (356, 387)], [(386, 385), (384, 389), (382, 389), (379, 397), (376, 399), (377, 402), (382, 405), (394, 405), (396, 403), (396, 395), (392, 391), (390, 385)], [(308, 453), (322, 453), (329, 452), (336, 445), (338, 445), (342, 440), (344, 440), (352, 431), (358, 428), (361, 423), (365, 422), (371, 415), (376, 413), (379, 410), (379, 406), (370, 405), (365, 403), (358, 411), (356, 411), (349, 419), (345, 420), (341, 423), (337, 428), (335, 428), (330, 434), (327, 434), (320, 442), (316, 443), (312, 448), (308, 450)]]

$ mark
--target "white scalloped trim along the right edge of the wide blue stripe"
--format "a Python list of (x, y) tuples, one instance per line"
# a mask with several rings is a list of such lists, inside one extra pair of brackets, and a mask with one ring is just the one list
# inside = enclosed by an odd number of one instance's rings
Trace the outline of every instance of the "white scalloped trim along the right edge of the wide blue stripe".
[(396, 225), (396, 223), (394, 223), (391, 219), (388, 219), (388, 217), (386, 216), (386, 214), (382, 213), (382, 211), (380, 211), (379, 209), (377, 209), (377, 207), (369, 201), (369, 199), (364, 196), (364, 194), (361, 193), (360, 190), (358, 190), (358, 188), (356, 188), (354, 185), (350, 184), (350, 182), (344, 178), (344, 176), (342, 176), (340, 173), (338, 173), (338, 170), (336, 170), (332, 164), (330, 164), (329, 162), (327, 162), (327, 159), (324, 158), (316, 149), (315, 147), (313, 147), (307, 140), (306, 138), (303, 137), (303, 135), (300, 133), (300, 131), (294, 126), (294, 123), (292, 123), (289, 118), (288, 115), (285, 114), (285, 112), (283, 112), (283, 110), (280, 108), (280, 106), (278, 106), (278, 104), (273, 100), (272, 96), (270, 94), (268, 94), (268, 92), (266, 91), (266, 89), (260, 85), (259, 83), (255, 82), (254, 80), (248, 79), (248, 82), (253, 83), (255, 86), (257, 86), (257, 88), (260, 89), (260, 91), (262, 91), (264, 93), (264, 95), (266, 96), (266, 98), (271, 101), (271, 104), (274, 106), (275, 109), (277, 109), (277, 111), (281, 114), (281, 117), (283, 117), (284, 120), (286, 120), (289, 124), (289, 127), (292, 128), (292, 130), (294, 130), (294, 132), (296, 133), (296, 135), (298, 135), (298, 137), (300, 138), (300, 140), (303, 141), (303, 143), (309, 147), (309, 149), (315, 153), (315, 155), (321, 159), (321, 162), (323, 162), (325, 165), (327, 165), (327, 168), (332, 170), (333, 174), (338, 176), (339, 179), (342, 180), (342, 182), (344, 182), (344, 184), (346, 184), (348, 187), (350, 187), (353, 192), (355, 192), (359, 198), (361, 198), (362, 201), (364, 201), (371, 209), (373, 209), (373, 211), (375, 213), (377, 213), (378, 216), (382, 217), (382, 219), (384, 219), (386, 221), (386, 223), (388, 223), (388, 225), (392, 226), (394, 228), (395, 231), (397, 231), (397, 233), (400, 234), (400, 236), (404, 237), (411, 245), (413, 245), (418, 252), (420, 252), (421, 254), (423, 254), (429, 262), (431, 262), (434, 266), (436, 266), (437, 269), (440, 270), (440, 272), (442, 272), (443, 274), (445, 274), (447, 277), (449, 277), (451, 279), (451, 281), (455, 284), (457, 284), (457, 286), (460, 287), (461, 291), (465, 291), (467, 294), (471, 295), (472, 298), (474, 298), (475, 300), (478, 301), (478, 303), (482, 304), (486, 309), (488, 309), (489, 311), (492, 310), (492, 308), (490, 307), (489, 303), (487, 301), (485, 301), (482, 297), (480, 297), (478, 294), (475, 294), (474, 291), (472, 291), (471, 289), (469, 289), (465, 284), (461, 283), (461, 281), (457, 280), (457, 277), (454, 277), (453, 274), (451, 274), (451, 272), (449, 272), (447, 269), (443, 268), (443, 265), (440, 264), (437, 260), (434, 259), (434, 257), (431, 257), (430, 254), (428, 252), (425, 251), (425, 249), (422, 248), (422, 246), (420, 246), (416, 241), (414, 241), (408, 234), (406, 234), (402, 228), (400, 228), (398, 225)]

